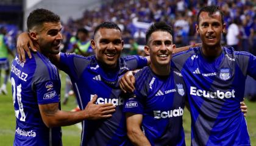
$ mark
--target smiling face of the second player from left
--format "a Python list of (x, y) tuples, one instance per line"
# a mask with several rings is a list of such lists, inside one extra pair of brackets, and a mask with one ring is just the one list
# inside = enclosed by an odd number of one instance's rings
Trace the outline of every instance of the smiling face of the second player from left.
[(118, 29), (101, 28), (95, 33), (94, 40), (91, 40), (97, 60), (108, 68), (116, 68), (123, 46), (124, 41)]

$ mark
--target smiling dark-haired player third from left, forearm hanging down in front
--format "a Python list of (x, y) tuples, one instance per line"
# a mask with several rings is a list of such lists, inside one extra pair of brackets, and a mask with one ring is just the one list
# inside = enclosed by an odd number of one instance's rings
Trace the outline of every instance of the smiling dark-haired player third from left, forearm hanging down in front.
[(180, 72), (171, 68), (173, 49), (171, 27), (163, 22), (152, 24), (144, 46), (151, 66), (135, 74), (135, 97), (124, 106), (133, 145), (185, 145), (185, 85)]

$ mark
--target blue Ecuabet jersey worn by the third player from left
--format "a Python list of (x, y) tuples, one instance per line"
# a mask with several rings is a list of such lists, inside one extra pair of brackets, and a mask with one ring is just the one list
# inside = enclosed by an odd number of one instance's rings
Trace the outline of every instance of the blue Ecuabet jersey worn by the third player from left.
[(142, 114), (142, 129), (151, 145), (185, 145), (182, 115), (185, 85), (177, 69), (165, 77), (145, 67), (136, 75), (135, 98), (126, 100), (124, 112)]

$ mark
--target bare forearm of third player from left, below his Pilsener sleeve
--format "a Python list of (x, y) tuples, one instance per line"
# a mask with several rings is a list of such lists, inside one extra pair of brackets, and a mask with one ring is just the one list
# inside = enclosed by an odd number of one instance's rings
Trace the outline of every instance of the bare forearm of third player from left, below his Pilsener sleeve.
[(133, 145), (151, 145), (141, 130), (143, 115), (126, 113), (127, 136)]

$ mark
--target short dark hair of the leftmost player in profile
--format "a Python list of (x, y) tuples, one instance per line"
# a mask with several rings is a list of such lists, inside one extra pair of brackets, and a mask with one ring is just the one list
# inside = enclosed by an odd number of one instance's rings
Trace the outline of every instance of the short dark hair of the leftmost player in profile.
[(27, 18), (27, 29), (30, 30), (34, 26), (41, 26), (43, 23), (58, 23), (60, 16), (46, 9), (35, 9)]

